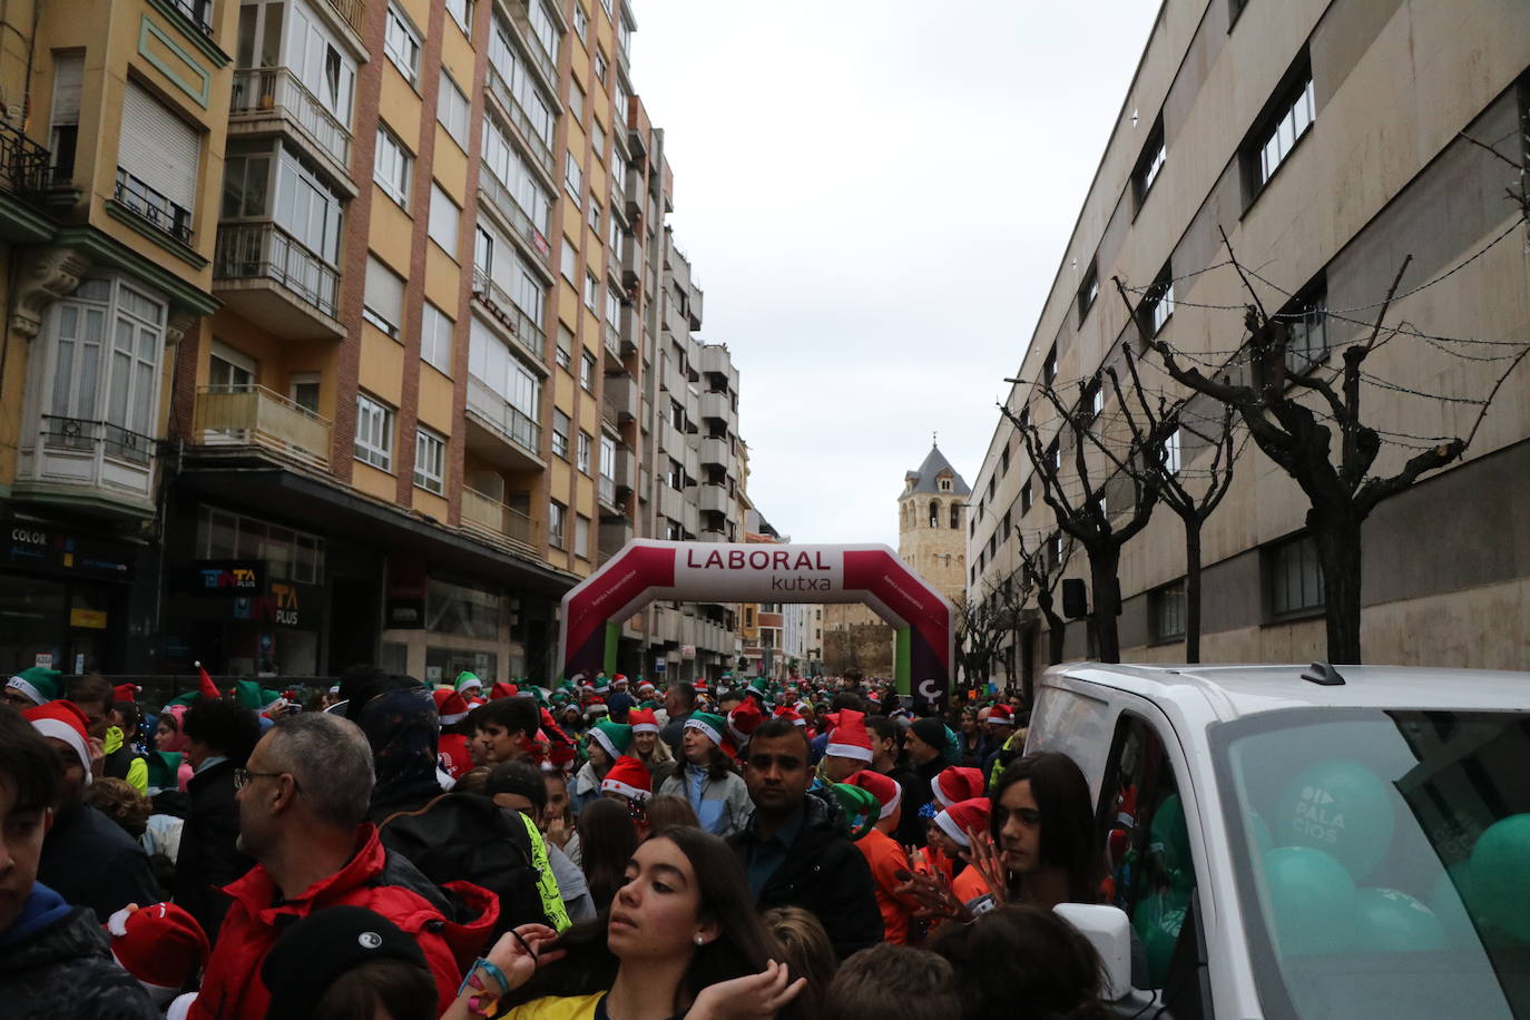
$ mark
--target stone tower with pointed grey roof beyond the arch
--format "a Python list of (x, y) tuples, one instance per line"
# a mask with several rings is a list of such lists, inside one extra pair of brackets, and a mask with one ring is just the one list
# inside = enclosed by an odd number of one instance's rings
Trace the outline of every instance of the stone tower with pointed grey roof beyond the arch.
[(967, 589), (967, 497), (972, 489), (938, 445), (918, 471), (903, 476), (898, 557), (952, 599)]

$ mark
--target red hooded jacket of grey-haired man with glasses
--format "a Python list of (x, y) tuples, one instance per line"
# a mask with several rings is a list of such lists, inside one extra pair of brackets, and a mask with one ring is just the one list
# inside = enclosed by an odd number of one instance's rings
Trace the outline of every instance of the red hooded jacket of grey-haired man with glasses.
[(265, 1020), (271, 992), (260, 980), (260, 965), (282, 931), (324, 907), (373, 910), (413, 937), (441, 992), (441, 1011), (451, 1005), (464, 968), (485, 948), (499, 901), (470, 882), (436, 887), (407, 858), (382, 849), (375, 826), (356, 832), (350, 861), (291, 899), (277, 899), (271, 873), (257, 864), (237, 882), (223, 887), (233, 898), (191, 1020)]

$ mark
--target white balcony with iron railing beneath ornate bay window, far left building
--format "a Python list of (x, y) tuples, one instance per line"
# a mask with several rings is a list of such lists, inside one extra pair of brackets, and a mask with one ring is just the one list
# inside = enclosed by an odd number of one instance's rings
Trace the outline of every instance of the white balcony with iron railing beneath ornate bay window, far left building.
[(159, 440), (110, 422), (43, 414), (23, 436), (12, 494), (153, 517)]

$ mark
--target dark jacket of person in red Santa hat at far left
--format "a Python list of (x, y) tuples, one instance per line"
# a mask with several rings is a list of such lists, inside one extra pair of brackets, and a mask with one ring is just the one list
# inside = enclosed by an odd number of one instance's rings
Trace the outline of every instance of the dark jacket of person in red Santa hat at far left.
[(54, 820), (37, 881), (76, 907), (89, 907), (101, 924), (129, 904), (147, 907), (165, 898), (144, 847), (84, 803), (64, 807)]

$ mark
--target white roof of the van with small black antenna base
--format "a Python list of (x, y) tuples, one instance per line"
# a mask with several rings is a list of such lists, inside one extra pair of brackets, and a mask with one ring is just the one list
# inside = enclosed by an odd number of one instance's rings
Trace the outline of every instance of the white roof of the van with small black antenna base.
[(1230, 720), (1288, 708), (1412, 708), (1530, 711), (1530, 673), (1434, 667), (1340, 665), (1342, 685), (1304, 681), (1311, 665), (1111, 665), (1053, 667), (1086, 684), (1102, 684), (1195, 713), (1210, 708)]

